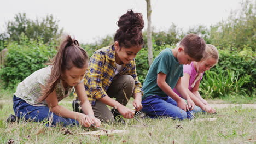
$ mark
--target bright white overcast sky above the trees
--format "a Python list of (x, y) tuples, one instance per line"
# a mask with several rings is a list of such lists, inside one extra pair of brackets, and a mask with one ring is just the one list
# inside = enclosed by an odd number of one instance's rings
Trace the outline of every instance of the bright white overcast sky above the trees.
[[(152, 26), (167, 30), (172, 22), (184, 30), (196, 25), (211, 26), (225, 20), (231, 10), (240, 8), (241, 0), (152, 0)], [(15, 14), (26, 13), (30, 19), (47, 14), (60, 20), (59, 26), (80, 43), (92, 43), (118, 29), (115, 22), (128, 9), (143, 14), (147, 28), (145, 0), (9, 0), (2, 1), (0, 33)]]

